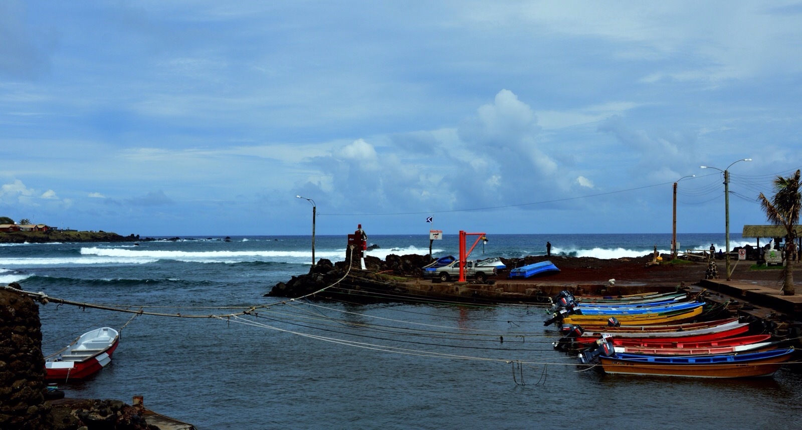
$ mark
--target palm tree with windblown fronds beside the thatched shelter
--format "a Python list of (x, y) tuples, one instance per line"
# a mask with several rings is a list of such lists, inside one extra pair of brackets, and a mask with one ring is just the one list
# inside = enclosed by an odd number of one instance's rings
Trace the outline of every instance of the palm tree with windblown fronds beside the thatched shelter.
[(780, 294), (794, 295), (794, 266), (792, 255), (796, 250), (796, 226), (800, 221), (800, 171), (793, 176), (777, 176), (774, 179), (774, 197), (772, 201), (760, 193), (760, 206), (766, 211), (768, 221), (773, 225), (782, 225), (788, 232), (785, 237), (785, 267), (783, 268), (783, 290)]

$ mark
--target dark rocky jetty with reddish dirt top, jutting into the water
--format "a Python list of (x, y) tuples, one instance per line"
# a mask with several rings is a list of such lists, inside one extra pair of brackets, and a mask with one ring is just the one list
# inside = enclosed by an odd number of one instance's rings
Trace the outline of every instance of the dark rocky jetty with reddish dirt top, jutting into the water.
[[(354, 266), (350, 271), (346, 262), (332, 263), (321, 259), (309, 273), (293, 276), (287, 282), (278, 282), (265, 296), (297, 298), (329, 287), (310, 298), (375, 302), (437, 295), (459, 301), (540, 302), (549, 298), (551, 290), (561, 286), (575, 287), (588, 293), (601, 289), (610, 292), (610, 280), (614, 280), (613, 290), (619, 291), (617, 294), (636, 294), (644, 292), (642, 290), (663, 291), (691, 286), (705, 278), (707, 261), (670, 261), (667, 254), (661, 257), (662, 262), (658, 263), (654, 262), (654, 254), (611, 259), (565, 255), (501, 258), (507, 266), (506, 270), (501, 270), (488, 282), (468, 279), (468, 285), (456, 290), (456, 283), (440, 283), (436, 279), (431, 281), (423, 278), (421, 268), (431, 262), (427, 255), (390, 254), (384, 261), (368, 256), (365, 258), (367, 270)], [(507, 276), (509, 269), (546, 260), (553, 262), (560, 272), (525, 279), (509, 279)], [(723, 272), (724, 262), (715, 263)], [(733, 279), (776, 285), (779, 271), (751, 270), (754, 263), (746, 261), (735, 265)], [(332, 286), (335, 282), (338, 283)]]

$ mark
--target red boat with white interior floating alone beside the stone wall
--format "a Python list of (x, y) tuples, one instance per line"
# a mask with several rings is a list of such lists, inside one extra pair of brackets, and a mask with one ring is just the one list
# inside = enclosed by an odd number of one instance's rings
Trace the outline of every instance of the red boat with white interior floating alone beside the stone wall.
[(111, 362), (119, 332), (111, 327), (87, 331), (67, 347), (45, 358), (48, 380), (83, 379)]

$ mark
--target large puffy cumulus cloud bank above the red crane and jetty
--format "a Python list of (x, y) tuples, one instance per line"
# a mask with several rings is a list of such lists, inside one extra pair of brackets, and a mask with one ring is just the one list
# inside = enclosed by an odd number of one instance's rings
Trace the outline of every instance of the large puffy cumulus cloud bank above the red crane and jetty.
[(322, 174), (298, 192), (327, 193), (371, 210), (520, 202), (521, 191), (557, 181), (557, 162), (539, 148), (540, 133), (533, 108), (501, 90), (458, 128), (357, 139), (315, 157), (311, 164)]

